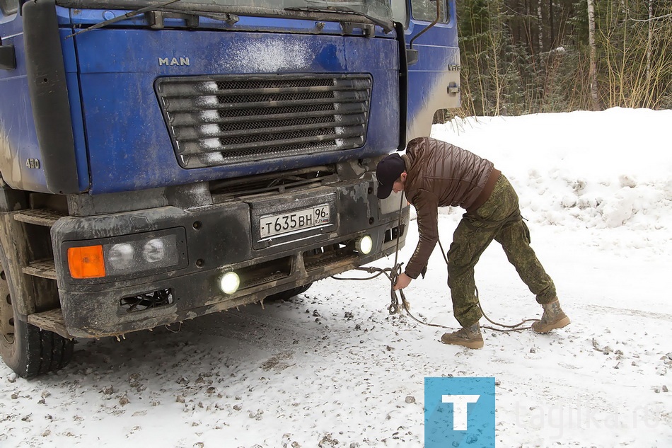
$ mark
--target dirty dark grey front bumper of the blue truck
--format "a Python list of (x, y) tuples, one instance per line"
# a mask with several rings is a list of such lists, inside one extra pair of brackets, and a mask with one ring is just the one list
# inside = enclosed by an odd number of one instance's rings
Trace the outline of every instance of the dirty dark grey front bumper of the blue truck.
[[(378, 201), (370, 174), (333, 185), (273, 197), (230, 200), (191, 209), (158, 207), (95, 217), (66, 217), (52, 229), (59, 297), (66, 328), (76, 337), (118, 335), (149, 329), (307, 285), (393, 253), (397, 234), (405, 241), (408, 207), (398, 197)], [(259, 234), (260, 210), (301, 209), (333, 199), (332, 225), (274, 239)], [(395, 207), (390, 206), (395, 202)], [(66, 248), (175, 229), (184, 239), (183, 258), (161, 273), (76, 280), (69, 275)], [(354, 241), (365, 234), (373, 250), (362, 255)], [(243, 274), (241, 289), (219, 289), (222, 272)], [(158, 294), (157, 306), (133, 306), (133, 298)]]

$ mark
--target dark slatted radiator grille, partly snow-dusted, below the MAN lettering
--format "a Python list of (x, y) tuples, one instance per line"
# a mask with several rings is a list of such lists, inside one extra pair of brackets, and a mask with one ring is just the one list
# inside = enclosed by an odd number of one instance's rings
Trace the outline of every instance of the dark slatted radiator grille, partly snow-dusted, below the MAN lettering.
[(364, 146), (368, 75), (161, 78), (155, 84), (184, 168)]

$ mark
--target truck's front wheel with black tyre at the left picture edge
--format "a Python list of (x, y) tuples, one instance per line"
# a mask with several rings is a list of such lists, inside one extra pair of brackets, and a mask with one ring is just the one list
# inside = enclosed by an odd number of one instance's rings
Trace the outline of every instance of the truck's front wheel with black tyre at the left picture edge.
[[(0, 254), (4, 255), (4, 254)], [(0, 355), (19, 377), (30, 378), (65, 367), (72, 358), (73, 341), (40, 330), (19, 318), (6, 260), (0, 256)]]

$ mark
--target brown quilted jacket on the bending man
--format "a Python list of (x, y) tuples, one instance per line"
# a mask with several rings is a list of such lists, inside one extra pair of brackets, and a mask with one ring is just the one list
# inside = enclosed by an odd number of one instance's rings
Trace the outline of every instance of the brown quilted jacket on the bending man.
[(439, 241), (439, 207), (463, 207), (473, 212), (487, 200), (501, 172), (491, 161), (430, 137), (408, 142), (406, 154), (408, 202), (417, 211), (419, 241), (405, 269), (417, 278)]

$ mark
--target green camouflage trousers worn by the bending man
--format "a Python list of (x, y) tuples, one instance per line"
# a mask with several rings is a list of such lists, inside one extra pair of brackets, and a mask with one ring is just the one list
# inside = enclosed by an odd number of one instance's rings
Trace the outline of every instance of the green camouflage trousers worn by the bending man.
[(556, 297), (553, 280), (530, 247), (530, 231), (521, 218), (518, 195), (502, 175), (488, 200), (463, 215), (448, 250), (448, 287), (453, 314), (462, 326), (471, 326), (482, 317), (475, 296), (474, 266), (493, 239), (502, 245), (539, 304), (550, 303)]

